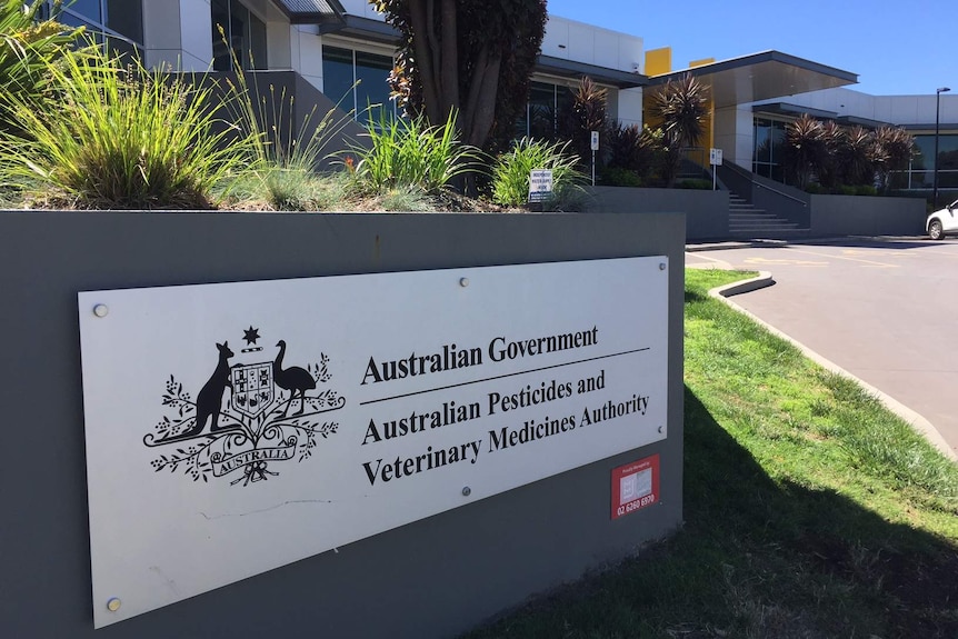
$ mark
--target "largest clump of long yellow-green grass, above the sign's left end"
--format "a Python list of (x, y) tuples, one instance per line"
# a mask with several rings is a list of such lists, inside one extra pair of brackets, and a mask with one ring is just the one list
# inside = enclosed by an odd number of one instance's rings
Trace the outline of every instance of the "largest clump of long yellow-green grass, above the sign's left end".
[(10, 181), (81, 208), (209, 208), (212, 188), (249, 162), (249, 140), (234, 127), (213, 132), (209, 82), (138, 61), (123, 68), (92, 44), (46, 72), (60, 104), (12, 100), (32, 139), (0, 141)]

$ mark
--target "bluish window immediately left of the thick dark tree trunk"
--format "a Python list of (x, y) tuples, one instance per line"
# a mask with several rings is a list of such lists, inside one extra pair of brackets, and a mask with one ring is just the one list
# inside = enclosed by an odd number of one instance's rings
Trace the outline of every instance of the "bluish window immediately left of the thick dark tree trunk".
[(389, 96), (390, 71), (390, 56), (322, 48), (322, 92), (342, 109), (353, 109), (357, 121), (375, 124), (380, 117), (397, 117), (396, 102)]

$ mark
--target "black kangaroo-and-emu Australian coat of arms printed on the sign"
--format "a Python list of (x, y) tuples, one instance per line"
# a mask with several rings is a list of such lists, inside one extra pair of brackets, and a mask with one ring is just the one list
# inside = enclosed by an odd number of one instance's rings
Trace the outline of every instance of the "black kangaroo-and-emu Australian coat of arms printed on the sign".
[(337, 432), (330, 413), (345, 407), (346, 398), (330, 388), (326, 353), (306, 368), (289, 366), (285, 340), (270, 357), (257, 346), (259, 329), (243, 333), (239, 357), (228, 340), (216, 345), (216, 366), (196, 399), (170, 375), (164, 415), (143, 437), (148, 447), (163, 450), (151, 461), (156, 471), (182, 470), (193, 481), (226, 478), (232, 486), (249, 486), (279, 475), (281, 462), (309, 459), (317, 437)]

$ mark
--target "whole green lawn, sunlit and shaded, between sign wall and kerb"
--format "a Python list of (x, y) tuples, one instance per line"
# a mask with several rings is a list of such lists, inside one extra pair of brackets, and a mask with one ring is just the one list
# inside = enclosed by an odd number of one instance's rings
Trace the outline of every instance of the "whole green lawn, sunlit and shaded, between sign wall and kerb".
[(685, 519), (469, 639), (958, 637), (958, 465), (686, 271)]

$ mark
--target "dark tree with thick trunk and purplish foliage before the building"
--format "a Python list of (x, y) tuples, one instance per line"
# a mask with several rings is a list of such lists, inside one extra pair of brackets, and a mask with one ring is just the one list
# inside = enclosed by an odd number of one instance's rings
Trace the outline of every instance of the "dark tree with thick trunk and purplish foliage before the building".
[(466, 144), (512, 137), (546, 30), (546, 0), (370, 0), (400, 33), (393, 96)]

